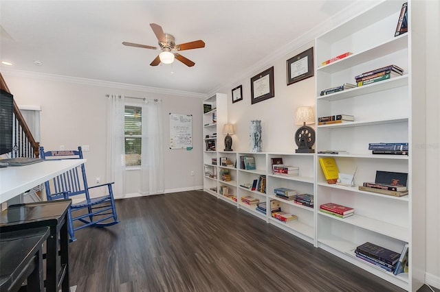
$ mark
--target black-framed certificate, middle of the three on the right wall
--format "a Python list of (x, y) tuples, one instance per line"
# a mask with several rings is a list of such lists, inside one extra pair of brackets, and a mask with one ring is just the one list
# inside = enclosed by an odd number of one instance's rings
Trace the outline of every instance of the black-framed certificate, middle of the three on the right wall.
[(255, 75), (250, 79), (251, 104), (270, 99), (275, 96), (274, 66)]

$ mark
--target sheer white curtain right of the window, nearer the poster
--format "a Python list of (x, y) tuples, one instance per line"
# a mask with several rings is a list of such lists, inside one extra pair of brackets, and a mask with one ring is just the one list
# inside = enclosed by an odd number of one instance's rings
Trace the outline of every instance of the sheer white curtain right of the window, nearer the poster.
[(142, 195), (164, 193), (164, 145), (162, 139), (162, 101), (146, 99), (142, 105)]

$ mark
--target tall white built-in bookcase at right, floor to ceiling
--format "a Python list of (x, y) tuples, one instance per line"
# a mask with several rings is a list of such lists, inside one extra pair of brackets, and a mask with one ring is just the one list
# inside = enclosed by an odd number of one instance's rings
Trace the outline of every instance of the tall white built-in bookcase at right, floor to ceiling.
[[(417, 291), (425, 271), (426, 140), (424, 128), (425, 60), (422, 57), (426, 23), (425, 4), (408, 0), (408, 32), (395, 37), (402, 5), (406, 0), (385, 0), (316, 38), (320, 62), (351, 52), (350, 56), (316, 68), (316, 117), (351, 114), (355, 121), (316, 126), (316, 149), (341, 149), (343, 154), (317, 154), (315, 178), (316, 245), (340, 258), (393, 282)], [(413, 32), (417, 32), (413, 34)], [(417, 56), (417, 58), (414, 58)], [(320, 96), (321, 90), (384, 66), (396, 65), (404, 75)], [(369, 143), (409, 143), (409, 156), (371, 154)], [(355, 173), (355, 187), (327, 184), (319, 158), (336, 160), (340, 173)], [(408, 195), (393, 197), (360, 191), (357, 186), (374, 182), (376, 171), (408, 173)], [(355, 215), (340, 219), (320, 212), (320, 204), (350, 206)], [(352, 251), (365, 242), (401, 252), (409, 245), (409, 273), (392, 273), (364, 263)], [(351, 254), (350, 254), (351, 253)], [(414, 272), (416, 271), (416, 272)]]

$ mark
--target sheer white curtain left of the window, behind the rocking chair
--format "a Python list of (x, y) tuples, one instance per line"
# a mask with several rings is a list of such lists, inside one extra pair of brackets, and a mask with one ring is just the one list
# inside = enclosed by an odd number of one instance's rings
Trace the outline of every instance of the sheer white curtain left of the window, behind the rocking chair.
[(123, 95), (107, 98), (107, 180), (113, 184), (113, 197), (125, 197), (125, 145)]

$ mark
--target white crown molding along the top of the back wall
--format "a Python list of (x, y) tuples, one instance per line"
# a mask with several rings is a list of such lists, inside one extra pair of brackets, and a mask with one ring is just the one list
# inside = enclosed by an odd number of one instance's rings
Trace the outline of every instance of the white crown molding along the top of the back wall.
[(4, 68), (4, 67), (1, 68), (1, 71), (5, 74), (17, 76), (17, 77), (28, 77), (28, 78), (52, 80), (52, 81), (58, 81), (58, 82), (69, 82), (69, 83), (74, 83), (74, 84), (100, 86), (100, 87), (105, 87), (105, 88), (136, 90), (136, 91), (140, 91), (142, 93), (158, 93), (158, 94), (162, 94), (162, 95), (197, 97), (200, 99), (205, 99), (207, 97), (207, 95), (205, 95), (205, 94), (191, 93), (188, 91), (148, 87), (148, 86), (125, 84), (125, 83), (118, 83), (118, 82), (108, 82), (108, 81), (102, 81), (102, 80), (92, 80), (92, 79), (87, 79), (87, 78), (71, 77), (71, 76), (56, 75), (56, 74), (49, 74), (49, 73), (39, 73), (39, 72), (33, 72), (33, 71), (21, 71), (21, 70), (8, 69), (8, 68)]

